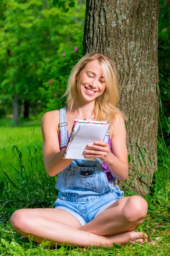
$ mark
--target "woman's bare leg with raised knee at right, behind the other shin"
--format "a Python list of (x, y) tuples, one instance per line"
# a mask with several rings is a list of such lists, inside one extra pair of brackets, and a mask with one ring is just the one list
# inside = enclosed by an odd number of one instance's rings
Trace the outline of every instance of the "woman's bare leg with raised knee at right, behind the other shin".
[(147, 202), (134, 195), (121, 198), (99, 213), (92, 221), (80, 227), (80, 230), (100, 236), (132, 231), (142, 224), (147, 214)]

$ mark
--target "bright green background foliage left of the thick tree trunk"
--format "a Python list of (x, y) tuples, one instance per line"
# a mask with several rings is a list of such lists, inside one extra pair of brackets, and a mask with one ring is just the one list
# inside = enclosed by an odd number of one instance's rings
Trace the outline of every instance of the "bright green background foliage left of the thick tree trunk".
[[(56, 89), (59, 90), (59, 86), (65, 85), (65, 76), (72, 64), (82, 55), (85, 5), (79, 4), (65, 13), (62, 9), (64, 2), (57, 3), (60, 9), (44, 0), (3, 1), (0, 8), (0, 100), (6, 109), (15, 92), (20, 104), (24, 98), (34, 108), (38, 105), (45, 108), (46, 102), (53, 100), (56, 90), (51, 90), (47, 97), (39, 88), (48, 89), (49, 77), (57, 81)], [(73, 2), (68, 3), (73, 5)], [(78, 52), (74, 52), (75, 46)], [(62, 56), (63, 52), (66, 57)]]

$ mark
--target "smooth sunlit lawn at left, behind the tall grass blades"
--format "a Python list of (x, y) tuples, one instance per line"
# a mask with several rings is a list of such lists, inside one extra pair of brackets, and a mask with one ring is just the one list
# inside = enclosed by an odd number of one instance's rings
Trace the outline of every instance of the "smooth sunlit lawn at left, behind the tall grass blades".
[[(6, 124), (4, 126), (3, 124)], [(12, 177), (17, 168), (17, 162), (13, 159), (17, 153), (14, 145), (22, 152), (22, 161), (28, 163), (28, 148), (31, 154), (34, 154), (35, 148), (42, 151), (42, 133), (40, 127), (41, 120), (33, 119), (24, 121), (20, 119), (19, 127), (11, 126), (11, 118), (0, 119), (0, 166)], [(2, 169), (0, 170), (0, 179), (4, 178)]]

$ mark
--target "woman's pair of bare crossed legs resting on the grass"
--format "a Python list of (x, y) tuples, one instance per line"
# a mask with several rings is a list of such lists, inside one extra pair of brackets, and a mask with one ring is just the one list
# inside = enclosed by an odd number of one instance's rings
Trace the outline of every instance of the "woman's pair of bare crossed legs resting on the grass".
[(20, 209), (11, 216), (11, 223), (22, 236), (33, 236), (39, 243), (48, 240), (51, 244), (113, 247), (113, 242), (143, 243), (142, 232), (131, 230), (142, 223), (146, 212), (146, 201), (132, 196), (119, 199), (83, 227), (71, 213), (61, 209)]

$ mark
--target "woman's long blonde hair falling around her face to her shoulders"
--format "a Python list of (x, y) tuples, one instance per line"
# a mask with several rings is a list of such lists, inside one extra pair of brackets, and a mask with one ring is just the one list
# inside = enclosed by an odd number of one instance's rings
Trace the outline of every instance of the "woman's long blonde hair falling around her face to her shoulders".
[(85, 65), (90, 61), (99, 62), (106, 83), (104, 92), (95, 100), (95, 106), (92, 111), (92, 113), (94, 113), (94, 120), (107, 121), (110, 124), (113, 124), (116, 119), (116, 114), (119, 114), (124, 119), (126, 119), (125, 113), (116, 108), (116, 105), (119, 102), (119, 84), (116, 66), (111, 57), (99, 52), (92, 52), (83, 56), (71, 70), (71, 74), (68, 78), (67, 89), (65, 94), (62, 96), (67, 97), (65, 103), (68, 106), (68, 109), (71, 111), (73, 105), (77, 101), (76, 77), (81, 73)]

